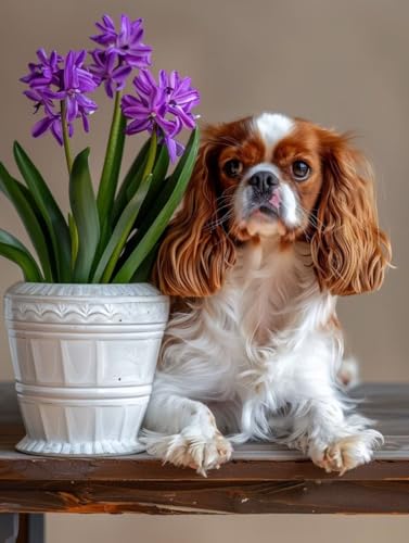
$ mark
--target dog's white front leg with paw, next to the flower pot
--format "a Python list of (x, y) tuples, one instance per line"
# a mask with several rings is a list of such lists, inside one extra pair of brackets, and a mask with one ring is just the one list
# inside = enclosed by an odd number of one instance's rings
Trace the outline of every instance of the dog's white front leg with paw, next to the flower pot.
[(231, 444), (217, 429), (210, 409), (201, 402), (154, 393), (144, 425), (141, 441), (164, 463), (191, 467), (206, 476), (206, 470), (218, 468), (231, 457)]

